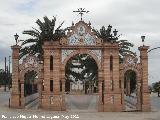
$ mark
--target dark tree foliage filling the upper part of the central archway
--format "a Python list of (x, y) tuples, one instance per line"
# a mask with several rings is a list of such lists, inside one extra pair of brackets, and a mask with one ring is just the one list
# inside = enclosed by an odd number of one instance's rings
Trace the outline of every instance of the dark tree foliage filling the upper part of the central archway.
[[(74, 71), (75, 68), (80, 72)], [(97, 65), (92, 57), (87, 54), (78, 54), (68, 61), (66, 65), (66, 78), (69, 79), (69, 75), (72, 75), (75, 81), (95, 79), (97, 69)]]

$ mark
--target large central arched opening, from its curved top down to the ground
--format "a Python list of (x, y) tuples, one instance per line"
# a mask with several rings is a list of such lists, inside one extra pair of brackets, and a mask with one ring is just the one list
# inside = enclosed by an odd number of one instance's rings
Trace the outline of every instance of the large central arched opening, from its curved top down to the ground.
[(65, 66), (65, 79), (66, 108), (96, 111), (98, 66), (92, 56), (77, 54), (71, 57)]

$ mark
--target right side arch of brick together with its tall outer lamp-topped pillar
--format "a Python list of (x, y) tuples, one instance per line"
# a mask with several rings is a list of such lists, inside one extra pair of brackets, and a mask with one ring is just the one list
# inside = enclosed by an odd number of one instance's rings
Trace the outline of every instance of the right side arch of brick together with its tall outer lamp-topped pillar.
[[(143, 46), (139, 47), (139, 50), (147, 50), (148, 47)], [(147, 51), (145, 51), (147, 52)], [(144, 55), (146, 55), (144, 57)], [(143, 61), (145, 58), (145, 61)], [(146, 62), (148, 61), (147, 53), (142, 54), (142, 51), (140, 51), (140, 62), (138, 63), (138, 58), (133, 55), (126, 55), (124, 58), (124, 62), (120, 64), (120, 81), (121, 81), (121, 90), (122, 90), (122, 103), (123, 103), (123, 110), (125, 110), (125, 100), (124, 100), (124, 77), (125, 73), (129, 70), (136, 73), (136, 95), (137, 95), (137, 103), (136, 103), (136, 109), (137, 111), (150, 111), (150, 97), (149, 97), (149, 91), (148, 91), (148, 77), (146, 76), (148, 74), (148, 64)], [(144, 63), (147, 66), (144, 66)], [(147, 71), (146, 71), (147, 69)], [(144, 78), (145, 77), (145, 78)], [(146, 86), (146, 87), (145, 87)], [(146, 99), (147, 98), (147, 99)], [(145, 107), (143, 104), (146, 104)], [(146, 107), (147, 106), (147, 107)]]

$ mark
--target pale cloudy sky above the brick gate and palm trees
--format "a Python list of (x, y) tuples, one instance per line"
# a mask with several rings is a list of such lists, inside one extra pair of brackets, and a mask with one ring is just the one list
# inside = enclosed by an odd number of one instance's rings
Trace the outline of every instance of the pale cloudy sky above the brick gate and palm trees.
[[(90, 12), (84, 16), (92, 27), (111, 24), (122, 33), (122, 39), (134, 43), (133, 50), (142, 45), (141, 35), (150, 48), (160, 46), (160, 1), (158, 0), (1, 0), (0, 2), (0, 68), (4, 68), (4, 57), (11, 55), (10, 46), (15, 44), (13, 35), (26, 39), (23, 30), (37, 27), (35, 21), (43, 16), (57, 17), (57, 26), (64, 21), (68, 27), (79, 16), (73, 10), (84, 7)], [(149, 82), (159, 81), (160, 50), (149, 53)]]

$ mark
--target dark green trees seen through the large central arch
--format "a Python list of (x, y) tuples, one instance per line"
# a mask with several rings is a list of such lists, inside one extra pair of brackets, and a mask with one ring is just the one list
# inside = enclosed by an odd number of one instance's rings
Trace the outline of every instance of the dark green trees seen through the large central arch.
[[(66, 65), (66, 82), (82, 81), (83, 85), (88, 85), (90, 89), (94, 90), (93, 86), (98, 86), (97, 70), (96, 62), (90, 55), (78, 54), (70, 59)], [(66, 89), (68, 89), (67, 86)]]

